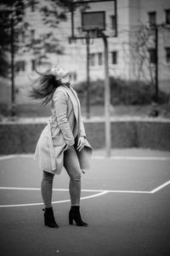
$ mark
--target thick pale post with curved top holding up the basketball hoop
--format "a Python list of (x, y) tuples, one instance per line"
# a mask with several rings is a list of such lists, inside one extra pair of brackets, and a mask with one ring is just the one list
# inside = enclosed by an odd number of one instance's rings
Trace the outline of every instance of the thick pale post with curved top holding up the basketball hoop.
[(104, 33), (102, 38), (105, 45), (105, 147), (106, 156), (111, 156), (111, 120), (110, 120), (110, 109), (111, 109), (111, 88), (109, 79), (109, 58), (108, 58), (108, 42)]

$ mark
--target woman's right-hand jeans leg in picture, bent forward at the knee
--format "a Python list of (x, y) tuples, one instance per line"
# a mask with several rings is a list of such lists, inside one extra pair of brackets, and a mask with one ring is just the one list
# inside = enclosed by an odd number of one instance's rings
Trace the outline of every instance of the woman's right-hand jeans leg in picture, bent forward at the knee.
[(64, 166), (70, 176), (69, 190), (71, 195), (71, 206), (80, 205), (81, 196), (81, 169), (77, 158), (77, 152), (72, 146), (65, 151)]

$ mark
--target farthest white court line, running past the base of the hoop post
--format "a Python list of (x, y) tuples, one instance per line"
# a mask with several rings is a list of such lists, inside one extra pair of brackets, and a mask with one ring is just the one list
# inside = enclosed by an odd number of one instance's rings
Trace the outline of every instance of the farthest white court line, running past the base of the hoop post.
[[(9, 154), (0, 156), (0, 160), (8, 160), (17, 157), (33, 158), (34, 154)], [(112, 155), (110, 158), (105, 155), (93, 155), (94, 160), (170, 160), (170, 156), (131, 156), (131, 155)]]

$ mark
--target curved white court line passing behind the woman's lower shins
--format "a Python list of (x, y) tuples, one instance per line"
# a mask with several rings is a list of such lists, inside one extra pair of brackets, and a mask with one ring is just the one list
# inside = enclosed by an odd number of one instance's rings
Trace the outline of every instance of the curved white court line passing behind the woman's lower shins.
[[(105, 190), (105, 191), (100, 192), (98, 194), (83, 196), (83, 197), (81, 197), (81, 200), (97, 197), (97, 196), (100, 196), (100, 195), (105, 195), (107, 193), (109, 193), (109, 192)], [(53, 204), (59, 204), (59, 203), (68, 202), (68, 201), (71, 201), (71, 200), (69, 199), (69, 200), (62, 200), (62, 201), (52, 201), (52, 203)], [(18, 204), (18, 205), (2, 205), (2, 206), (0, 206), (0, 208), (4, 208), (4, 207), (34, 207), (34, 206), (41, 206), (41, 205), (43, 205), (43, 203), (30, 203), (30, 204)]]

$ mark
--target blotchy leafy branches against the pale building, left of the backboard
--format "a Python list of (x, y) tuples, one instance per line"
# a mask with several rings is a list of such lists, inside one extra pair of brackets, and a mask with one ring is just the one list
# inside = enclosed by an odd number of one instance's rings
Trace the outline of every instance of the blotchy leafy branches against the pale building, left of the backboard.
[[(29, 3), (29, 0), (27, 0)], [(35, 38), (28, 38), (26, 51), (31, 52), (35, 56), (37, 63), (48, 61), (48, 56), (53, 53), (55, 55), (64, 54), (64, 48), (59, 36), (59, 23), (67, 19), (66, 12), (70, 7), (71, 1), (61, 0), (34, 0), (35, 8), (41, 15), (44, 30), (35, 32)], [(29, 26), (28, 32), (31, 33), (35, 24)]]

